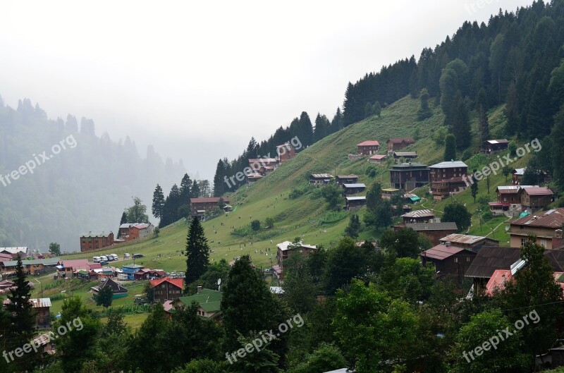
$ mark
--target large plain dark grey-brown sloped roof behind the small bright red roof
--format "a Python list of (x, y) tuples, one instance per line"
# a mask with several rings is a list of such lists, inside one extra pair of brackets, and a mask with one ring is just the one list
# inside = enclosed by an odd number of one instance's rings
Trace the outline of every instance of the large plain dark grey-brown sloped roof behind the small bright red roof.
[(464, 276), (489, 279), (496, 269), (510, 270), (519, 257), (518, 247), (482, 246)]

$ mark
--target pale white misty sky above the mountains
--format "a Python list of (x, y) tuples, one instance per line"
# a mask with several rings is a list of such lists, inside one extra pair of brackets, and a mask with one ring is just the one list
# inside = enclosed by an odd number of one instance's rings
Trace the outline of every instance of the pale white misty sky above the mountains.
[(0, 95), (92, 118), (97, 134), (129, 135), (142, 157), (152, 144), (211, 179), (251, 136), (302, 111), (332, 118), (349, 81), (531, 3), (2, 1)]

